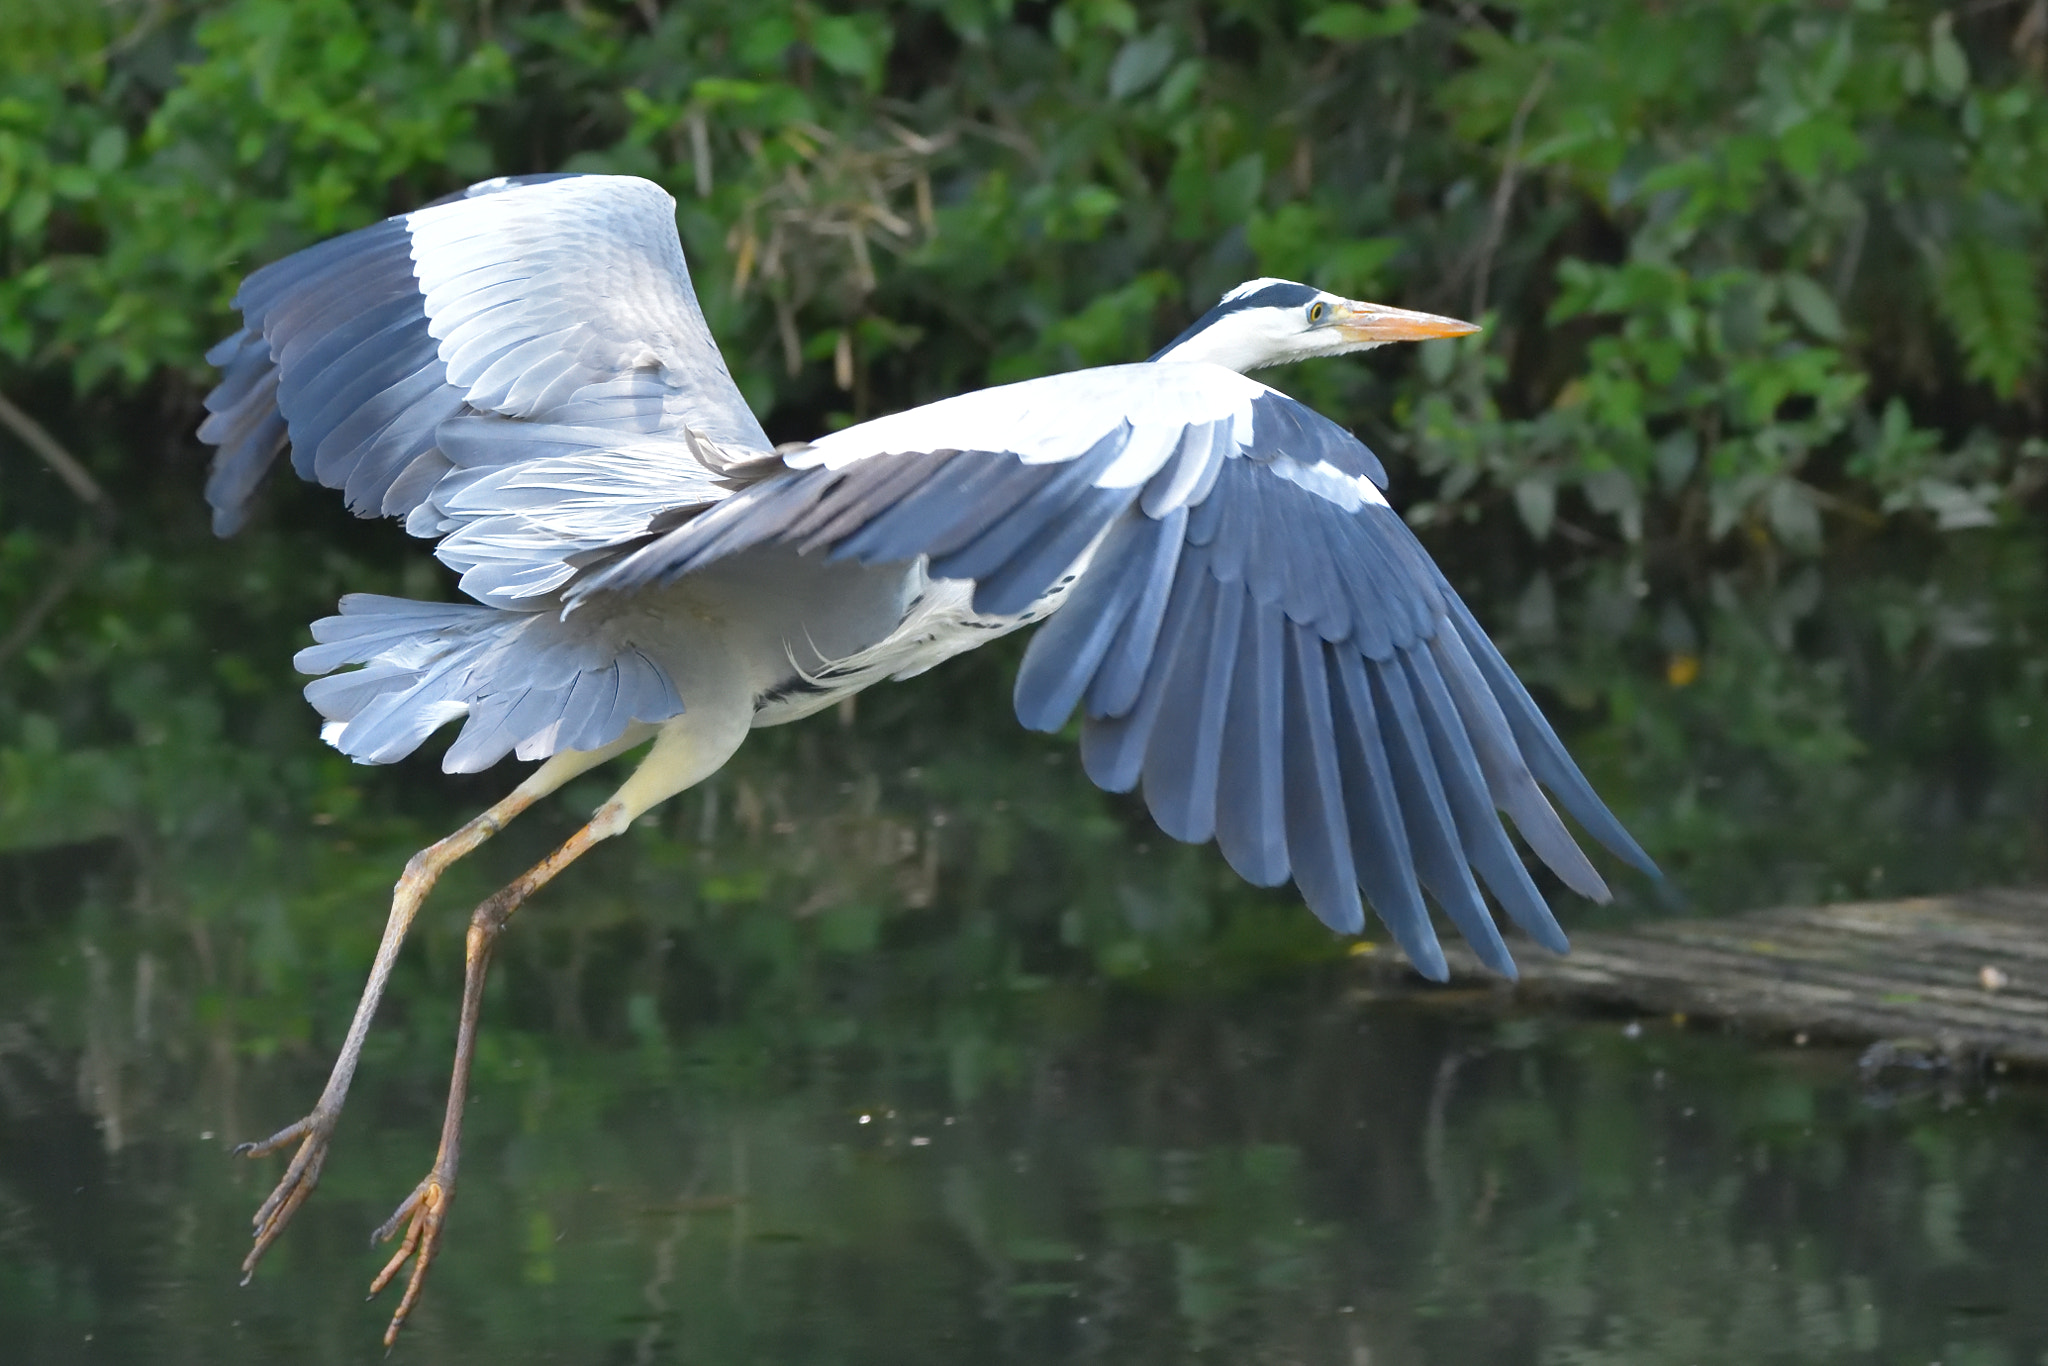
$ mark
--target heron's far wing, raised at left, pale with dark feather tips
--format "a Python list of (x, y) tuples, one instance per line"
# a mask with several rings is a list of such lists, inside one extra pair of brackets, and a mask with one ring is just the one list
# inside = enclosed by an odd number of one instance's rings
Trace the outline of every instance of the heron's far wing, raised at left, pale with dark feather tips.
[[(256, 270), (236, 307), (199, 430), (219, 446), (219, 535), (289, 440), (293, 469), (360, 516), (422, 537), (496, 518), (469, 537), (483, 561), (442, 557), (479, 598), (518, 598), (559, 586), (592, 537), (639, 535), (643, 504), (721, 496), (686, 430), (768, 446), (696, 305), (676, 201), (633, 176), (487, 180)], [(545, 465), (508, 473), (526, 461)], [(621, 479), (655, 487), (582, 498)], [(516, 524), (549, 494), (582, 498), (573, 545)]]

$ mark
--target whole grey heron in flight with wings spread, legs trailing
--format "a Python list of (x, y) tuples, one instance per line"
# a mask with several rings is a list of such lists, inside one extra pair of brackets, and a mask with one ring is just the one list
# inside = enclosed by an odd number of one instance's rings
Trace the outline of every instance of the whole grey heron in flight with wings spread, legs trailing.
[(420, 850), (244, 1272), (319, 1180), (399, 944), (434, 881), (578, 774), (653, 741), (590, 823), (469, 922), (432, 1169), (377, 1237), (420, 1298), (455, 1196), (492, 946), (526, 897), (705, 780), (762, 725), (831, 707), (1044, 621), (1018, 719), (1081, 715), (1102, 788), (1260, 887), (1292, 879), (1339, 934), (1370, 903), (1444, 979), (1427, 893), (1503, 975), (1481, 893), (1565, 950), (1507, 838), (1608, 899), (1548, 795), (1655, 877), (1389, 508), (1380, 461), (1247, 371), (1477, 332), (1249, 281), (1143, 365), (963, 393), (772, 449), (705, 326), (676, 205), (631, 176), (487, 180), (254, 272), (199, 434), (233, 532), (289, 444), (303, 479), (434, 541), (469, 602), (342, 598), (297, 668), (322, 735), (365, 764), (543, 760)]

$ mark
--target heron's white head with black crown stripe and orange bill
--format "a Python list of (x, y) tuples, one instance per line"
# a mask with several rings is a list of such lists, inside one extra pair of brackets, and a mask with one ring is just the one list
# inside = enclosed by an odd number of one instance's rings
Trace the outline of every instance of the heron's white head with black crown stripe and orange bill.
[(1386, 342), (1479, 332), (1477, 324), (1360, 303), (1292, 281), (1245, 281), (1153, 360), (1208, 360), (1237, 373)]

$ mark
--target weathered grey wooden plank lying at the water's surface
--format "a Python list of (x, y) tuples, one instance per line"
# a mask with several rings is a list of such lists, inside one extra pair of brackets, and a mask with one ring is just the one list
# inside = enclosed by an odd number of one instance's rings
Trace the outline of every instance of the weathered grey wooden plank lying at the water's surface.
[[(1448, 956), (1485, 975), (1462, 946)], [(1651, 920), (1518, 956), (1530, 995), (2048, 1065), (2048, 891)]]

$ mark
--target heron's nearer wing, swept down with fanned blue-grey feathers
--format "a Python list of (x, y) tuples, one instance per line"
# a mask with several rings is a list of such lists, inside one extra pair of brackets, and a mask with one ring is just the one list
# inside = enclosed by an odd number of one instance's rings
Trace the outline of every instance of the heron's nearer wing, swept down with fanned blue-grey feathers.
[(1608, 889), (1542, 788), (1655, 864), (1380, 492), (1352, 434), (1212, 365), (1124, 365), (944, 399), (836, 432), (571, 586), (670, 580), (768, 541), (860, 563), (930, 557), (1014, 614), (1079, 575), (1024, 655), (1016, 709), (1083, 711), (1090, 778), (1143, 784), (1159, 827), (1214, 838), (1257, 885), (1294, 879), (1335, 930), (1364, 899), (1427, 975), (1421, 893), (1493, 969), (1481, 885), (1565, 936), (1501, 823), (1569, 887)]

